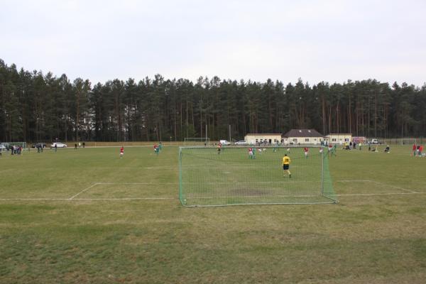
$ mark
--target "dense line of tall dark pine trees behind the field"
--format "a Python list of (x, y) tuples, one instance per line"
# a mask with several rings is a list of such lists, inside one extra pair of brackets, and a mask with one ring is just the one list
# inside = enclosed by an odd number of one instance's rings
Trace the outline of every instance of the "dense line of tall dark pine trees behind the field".
[(17, 70), (0, 60), (0, 141), (181, 141), (313, 128), (323, 134), (423, 136), (426, 85), (376, 80), (111, 80)]

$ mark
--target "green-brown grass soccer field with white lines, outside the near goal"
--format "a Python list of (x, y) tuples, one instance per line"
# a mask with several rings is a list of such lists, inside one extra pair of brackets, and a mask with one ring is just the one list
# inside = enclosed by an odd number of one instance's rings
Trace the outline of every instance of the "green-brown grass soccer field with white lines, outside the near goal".
[(425, 283), (426, 158), (329, 164), (339, 204), (185, 208), (176, 147), (3, 155), (0, 283)]

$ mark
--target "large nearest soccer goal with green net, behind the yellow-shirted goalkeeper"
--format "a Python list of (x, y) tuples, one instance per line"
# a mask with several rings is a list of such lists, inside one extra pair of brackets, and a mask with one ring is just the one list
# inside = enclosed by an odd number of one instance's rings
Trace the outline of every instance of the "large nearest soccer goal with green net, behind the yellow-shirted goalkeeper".
[[(327, 150), (294, 148), (179, 148), (179, 199), (186, 207), (237, 204), (336, 203)], [(290, 157), (284, 175), (283, 155)]]

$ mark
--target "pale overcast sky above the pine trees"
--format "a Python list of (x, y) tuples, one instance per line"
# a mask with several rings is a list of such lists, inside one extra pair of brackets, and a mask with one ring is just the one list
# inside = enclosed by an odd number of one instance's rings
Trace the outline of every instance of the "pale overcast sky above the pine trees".
[(0, 0), (0, 58), (105, 82), (426, 82), (426, 1)]

